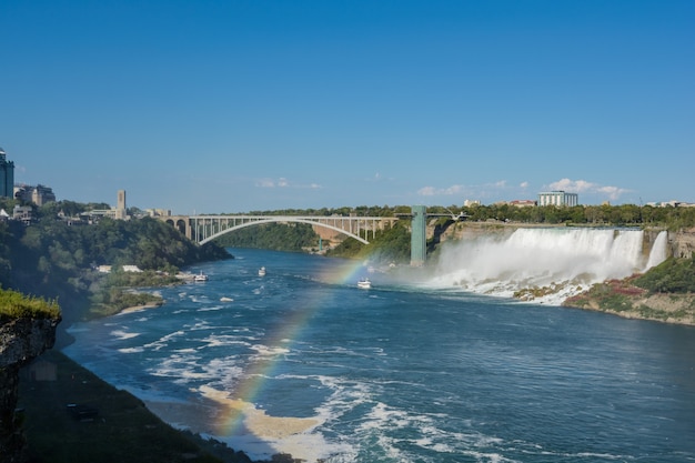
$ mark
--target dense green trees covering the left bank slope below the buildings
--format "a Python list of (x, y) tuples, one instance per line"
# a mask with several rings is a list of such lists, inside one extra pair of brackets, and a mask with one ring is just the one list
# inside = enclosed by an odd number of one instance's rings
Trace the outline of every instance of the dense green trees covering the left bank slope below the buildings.
[[(0, 199), (0, 208), (11, 211), (13, 201)], [(77, 215), (90, 205), (51, 202), (34, 207), (29, 225), (0, 221), (0, 288), (58, 300), (63, 310), (83, 313), (94, 294), (121, 284), (115, 275), (111, 282), (104, 280), (94, 270), (98, 265), (137, 265), (145, 271), (140, 279), (147, 279), (195, 262), (230, 258), (218, 244), (200, 246), (155, 219), (102, 218), (85, 224), (61, 219), (58, 212), (66, 210)], [(104, 299), (109, 296), (102, 294)]]

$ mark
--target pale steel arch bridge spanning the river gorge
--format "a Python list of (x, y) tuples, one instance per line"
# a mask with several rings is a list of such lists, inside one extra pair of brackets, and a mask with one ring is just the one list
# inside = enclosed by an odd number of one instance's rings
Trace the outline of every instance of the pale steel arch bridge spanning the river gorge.
[(168, 215), (160, 220), (173, 225), (198, 244), (204, 244), (225, 233), (264, 223), (308, 223), (326, 228), (369, 244), (377, 231), (392, 228), (395, 217), (343, 217), (343, 215)]

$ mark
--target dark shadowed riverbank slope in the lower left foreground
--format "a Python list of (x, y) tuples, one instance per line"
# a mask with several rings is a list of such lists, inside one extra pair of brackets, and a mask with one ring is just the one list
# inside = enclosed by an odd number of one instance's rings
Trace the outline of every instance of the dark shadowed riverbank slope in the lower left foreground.
[(173, 429), (142, 401), (56, 350), (22, 370), (18, 406), (31, 463), (252, 462), (243, 452)]

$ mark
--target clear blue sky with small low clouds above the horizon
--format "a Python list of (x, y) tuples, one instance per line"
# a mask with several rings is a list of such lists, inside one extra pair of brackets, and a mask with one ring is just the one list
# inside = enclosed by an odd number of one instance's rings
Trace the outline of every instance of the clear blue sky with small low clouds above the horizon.
[(0, 0), (0, 147), (174, 213), (695, 202), (695, 2)]

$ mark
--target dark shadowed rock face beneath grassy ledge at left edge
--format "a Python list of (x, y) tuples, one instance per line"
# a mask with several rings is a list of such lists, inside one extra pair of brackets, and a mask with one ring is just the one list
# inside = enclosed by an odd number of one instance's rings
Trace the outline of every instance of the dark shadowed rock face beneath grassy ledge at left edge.
[(56, 342), (60, 320), (13, 319), (0, 322), (0, 462), (21, 462), (24, 439), (14, 410), (19, 369)]

